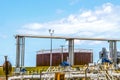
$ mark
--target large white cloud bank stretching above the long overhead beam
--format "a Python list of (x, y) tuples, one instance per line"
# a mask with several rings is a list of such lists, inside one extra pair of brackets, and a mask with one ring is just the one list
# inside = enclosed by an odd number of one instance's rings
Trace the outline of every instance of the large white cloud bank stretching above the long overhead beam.
[(119, 10), (120, 6), (106, 3), (94, 10), (83, 10), (80, 14), (71, 14), (61, 20), (26, 24), (19, 32), (46, 35), (49, 34), (48, 29), (54, 29), (54, 34), (57, 35), (120, 38), (118, 36), (120, 32)]

